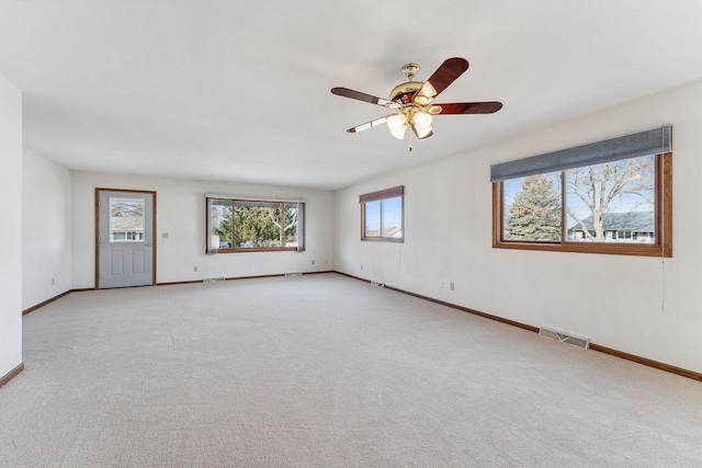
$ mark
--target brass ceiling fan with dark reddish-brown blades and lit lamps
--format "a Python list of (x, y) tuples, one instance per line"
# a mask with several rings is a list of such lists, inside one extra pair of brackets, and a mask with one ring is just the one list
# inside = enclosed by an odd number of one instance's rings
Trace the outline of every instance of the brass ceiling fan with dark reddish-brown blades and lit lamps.
[[(453, 57), (445, 60), (424, 82), (414, 81), (419, 71), (419, 65), (407, 64), (401, 68), (403, 73), (409, 81), (396, 85), (390, 91), (389, 100), (376, 98), (348, 88), (332, 88), (333, 94), (370, 102), (394, 110), (393, 114), (376, 118), (365, 124), (356, 125), (347, 132), (355, 134), (387, 123), (390, 134), (397, 139), (404, 139), (407, 127), (419, 139), (429, 138), (433, 135), (431, 127), (432, 116), (450, 114), (492, 114), (502, 109), (501, 102), (461, 102), (449, 104), (434, 104), (433, 100), (456, 78), (468, 69), (468, 60), (461, 57)], [(409, 148), (412, 150), (411, 134), (409, 135)]]

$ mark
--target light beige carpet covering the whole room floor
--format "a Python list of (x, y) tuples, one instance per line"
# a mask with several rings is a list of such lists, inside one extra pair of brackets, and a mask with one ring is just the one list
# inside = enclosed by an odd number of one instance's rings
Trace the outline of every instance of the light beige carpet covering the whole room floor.
[(695, 467), (702, 385), (336, 274), (24, 318), (2, 467)]

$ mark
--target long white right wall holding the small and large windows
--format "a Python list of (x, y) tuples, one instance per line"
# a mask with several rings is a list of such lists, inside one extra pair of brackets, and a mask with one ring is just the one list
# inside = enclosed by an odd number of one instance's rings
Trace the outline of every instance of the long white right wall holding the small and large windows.
[[(339, 191), (337, 270), (702, 372), (700, 102), (702, 82), (695, 82)], [(667, 123), (673, 127), (675, 256), (665, 262), (665, 282), (656, 258), (491, 248), (490, 164)], [(429, 150), (431, 141), (416, 149)], [(396, 185), (405, 185), (406, 242), (361, 242), (358, 196)], [(441, 281), (454, 282), (456, 290), (440, 289)]]

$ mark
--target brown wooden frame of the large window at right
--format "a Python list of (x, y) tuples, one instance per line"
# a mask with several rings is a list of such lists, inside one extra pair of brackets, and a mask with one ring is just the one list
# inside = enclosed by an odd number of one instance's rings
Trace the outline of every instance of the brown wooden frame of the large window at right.
[[(590, 164), (584, 165), (584, 168)], [(553, 171), (551, 171), (553, 172)], [(542, 250), (555, 252), (604, 253), (615, 255), (672, 258), (672, 152), (655, 155), (654, 158), (654, 224), (655, 242), (577, 242), (567, 240), (565, 170), (561, 171), (561, 240), (524, 241), (505, 239), (503, 182), (492, 182), (492, 248)]]

